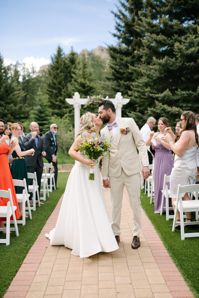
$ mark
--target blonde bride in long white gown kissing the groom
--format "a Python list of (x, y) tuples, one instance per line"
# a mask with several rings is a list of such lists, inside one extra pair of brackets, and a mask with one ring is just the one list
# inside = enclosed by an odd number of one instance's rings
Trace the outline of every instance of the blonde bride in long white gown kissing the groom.
[[(81, 116), (80, 125), (78, 137), (68, 152), (77, 162), (68, 178), (56, 226), (45, 236), (51, 245), (64, 245), (82, 258), (119, 247), (110, 226), (96, 161), (81, 155), (77, 145), (81, 142), (81, 133), (89, 139), (93, 132), (98, 133), (102, 120), (87, 112)], [(95, 167), (94, 181), (88, 180), (90, 167)]]

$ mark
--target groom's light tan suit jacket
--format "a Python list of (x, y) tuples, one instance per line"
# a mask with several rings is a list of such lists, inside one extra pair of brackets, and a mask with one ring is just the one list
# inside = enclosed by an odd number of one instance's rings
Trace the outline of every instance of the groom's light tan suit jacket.
[[(130, 127), (127, 134), (120, 134), (120, 128)], [(149, 164), (146, 144), (142, 138), (138, 126), (132, 118), (120, 118), (116, 136), (105, 126), (101, 134), (105, 134), (107, 139), (113, 136), (114, 141), (109, 148), (109, 156), (102, 158), (102, 176), (119, 177), (122, 169), (130, 176), (142, 170), (138, 152), (141, 156), (142, 164)], [(137, 149), (136, 149), (137, 148)]]

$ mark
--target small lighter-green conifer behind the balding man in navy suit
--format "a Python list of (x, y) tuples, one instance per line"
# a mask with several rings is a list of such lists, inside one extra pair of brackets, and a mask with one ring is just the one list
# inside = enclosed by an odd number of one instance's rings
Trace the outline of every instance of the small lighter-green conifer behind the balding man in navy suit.
[(51, 112), (48, 96), (47, 94), (42, 93), (39, 88), (35, 98), (34, 108), (31, 111), (30, 119), (31, 122), (34, 121), (38, 123), (41, 134), (45, 134), (50, 129)]

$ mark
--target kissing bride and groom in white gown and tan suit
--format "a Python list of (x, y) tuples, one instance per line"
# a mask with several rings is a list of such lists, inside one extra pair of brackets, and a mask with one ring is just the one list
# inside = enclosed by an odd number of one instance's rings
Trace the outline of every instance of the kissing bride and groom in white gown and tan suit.
[[(80, 118), (78, 136), (69, 150), (70, 156), (77, 162), (67, 181), (56, 226), (45, 235), (51, 245), (64, 245), (72, 249), (72, 254), (80, 257), (119, 248), (124, 186), (133, 212), (131, 247), (137, 249), (140, 246), (140, 171), (144, 179), (150, 175), (146, 145), (135, 121), (132, 118), (117, 117), (110, 100), (99, 103), (98, 112), (98, 116), (87, 112)], [(93, 132), (99, 132), (102, 123), (108, 124), (101, 130), (101, 134), (104, 133), (106, 139), (111, 136), (114, 138), (109, 156), (102, 156), (103, 187), (110, 188), (111, 225), (100, 173), (95, 167), (96, 161), (85, 158), (77, 146), (81, 142), (81, 133), (90, 139)], [(88, 180), (90, 168), (95, 168), (94, 181)]]

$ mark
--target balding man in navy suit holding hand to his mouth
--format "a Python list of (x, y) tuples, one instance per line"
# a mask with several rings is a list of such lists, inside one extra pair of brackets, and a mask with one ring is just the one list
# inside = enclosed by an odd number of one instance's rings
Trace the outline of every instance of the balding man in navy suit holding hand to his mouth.
[[(23, 137), (23, 146), (26, 150), (34, 148), (35, 152), (33, 156), (26, 155), (25, 161), (27, 164), (28, 173), (36, 172), (37, 174), (37, 183), (38, 183), (39, 192), (40, 192), (41, 176), (43, 173), (43, 166), (44, 166), (42, 156), (46, 156), (46, 152), (44, 150), (43, 139), (41, 138), (41, 136), (37, 135), (39, 131), (39, 125), (36, 122), (30, 123), (30, 131), (31, 131), (30, 134), (27, 134), (26, 136)], [(33, 181), (33, 179), (29, 179), (29, 180), (30, 180), (29, 184), (32, 184), (31, 180)]]

